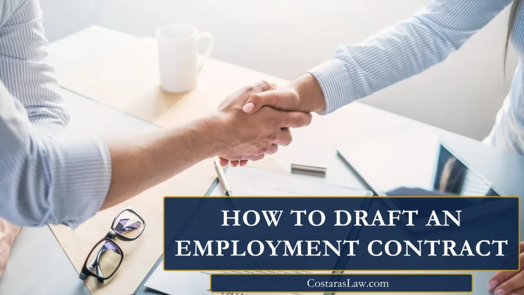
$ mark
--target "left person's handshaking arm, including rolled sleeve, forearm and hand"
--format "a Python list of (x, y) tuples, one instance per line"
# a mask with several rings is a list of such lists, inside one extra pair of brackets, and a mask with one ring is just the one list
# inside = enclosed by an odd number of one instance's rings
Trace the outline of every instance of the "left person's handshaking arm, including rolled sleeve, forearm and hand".
[(0, 83), (0, 216), (18, 225), (75, 227), (206, 158), (253, 158), (289, 144), (282, 128), (308, 125), (311, 116), (271, 108), (244, 114), (249, 95), (266, 90), (258, 82), (189, 124), (104, 141), (42, 137)]

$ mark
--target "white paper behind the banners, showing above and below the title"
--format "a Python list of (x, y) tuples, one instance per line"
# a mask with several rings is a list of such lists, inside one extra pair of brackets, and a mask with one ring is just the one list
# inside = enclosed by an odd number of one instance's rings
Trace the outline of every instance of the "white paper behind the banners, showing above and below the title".
[[(226, 173), (233, 195), (238, 196), (369, 196), (366, 190), (351, 189), (322, 181), (297, 178), (252, 167), (229, 168)], [(211, 195), (223, 195), (217, 185)], [(231, 272), (231, 271), (225, 271)], [(246, 271), (243, 271), (246, 272)], [(275, 271), (274, 271), (275, 272)], [(308, 271), (303, 271), (308, 272)], [(315, 271), (329, 274), (331, 271)], [(159, 264), (145, 286), (166, 294), (210, 295), (210, 272), (164, 271)], [(299, 293), (295, 293), (299, 294)], [(322, 294), (322, 293), (319, 293)], [(246, 294), (238, 294), (246, 295)], [(271, 293), (275, 295), (275, 293)]]

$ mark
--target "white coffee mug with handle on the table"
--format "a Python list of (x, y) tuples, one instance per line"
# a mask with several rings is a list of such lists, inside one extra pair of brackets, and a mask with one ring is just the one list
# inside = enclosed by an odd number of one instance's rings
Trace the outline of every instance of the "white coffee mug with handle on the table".
[[(187, 92), (196, 80), (214, 45), (213, 35), (189, 24), (167, 24), (155, 31), (158, 40), (160, 87), (167, 92)], [(199, 42), (208, 39), (208, 48), (198, 62)]]

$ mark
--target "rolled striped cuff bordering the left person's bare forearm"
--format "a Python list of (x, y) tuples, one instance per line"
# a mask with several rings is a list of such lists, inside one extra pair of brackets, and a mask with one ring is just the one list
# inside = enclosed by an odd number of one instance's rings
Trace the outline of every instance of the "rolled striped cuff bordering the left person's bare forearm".
[(99, 139), (53, 142), (48, 145), (50, 219), (74, 229), (102, 207), (111, 184), (111, 156)]

